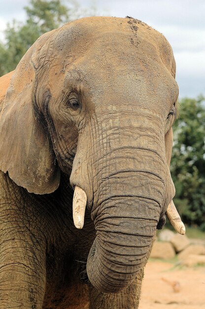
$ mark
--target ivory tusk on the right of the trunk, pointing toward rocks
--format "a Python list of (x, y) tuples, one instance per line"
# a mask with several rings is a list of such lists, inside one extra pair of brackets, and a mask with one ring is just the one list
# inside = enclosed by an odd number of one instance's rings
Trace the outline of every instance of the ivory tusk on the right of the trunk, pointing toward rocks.
[(173, 201), (170, 202), (167, 208), (166, 215), (168, 219), (170, 220), (170, 223), (174, 230), (178, 232), (181, 235), (184, 235), (186, 232), (185, 226), (183, 222), (181, 221), (181, 218), (178, 214), (178, 211), (176, 210), (176, 207), (173, 203)]

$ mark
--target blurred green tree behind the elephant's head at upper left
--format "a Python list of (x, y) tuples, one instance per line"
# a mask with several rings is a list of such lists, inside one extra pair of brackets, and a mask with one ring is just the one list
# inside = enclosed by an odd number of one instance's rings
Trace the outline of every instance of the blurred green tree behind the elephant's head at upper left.
[(15, 69), (26, 51), (43, 33), (70, 20), (69, 9), (61, 0), (31, 0), (25, 7), (26, 23), (13, 21), (5, 30), (5, 44), (0, 43), (0, 76)]

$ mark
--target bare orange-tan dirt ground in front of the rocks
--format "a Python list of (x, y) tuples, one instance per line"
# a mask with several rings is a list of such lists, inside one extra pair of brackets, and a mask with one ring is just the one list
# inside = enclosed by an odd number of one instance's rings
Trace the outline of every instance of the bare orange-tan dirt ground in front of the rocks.
[(205, 309), (205, 267), (185, 268), (161, 261), (147, 263), (139, 309), (202, 308)]

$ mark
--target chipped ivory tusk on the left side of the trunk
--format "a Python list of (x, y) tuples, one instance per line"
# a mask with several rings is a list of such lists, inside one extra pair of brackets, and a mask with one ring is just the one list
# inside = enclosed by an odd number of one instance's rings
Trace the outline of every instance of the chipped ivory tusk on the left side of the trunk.
[(74, 225), (77, 229), (82, 229), (84, 225), (85, 208), (87, 204), (87, 196), (85, 191), (75, 186), (72, 201), (72, 217)]

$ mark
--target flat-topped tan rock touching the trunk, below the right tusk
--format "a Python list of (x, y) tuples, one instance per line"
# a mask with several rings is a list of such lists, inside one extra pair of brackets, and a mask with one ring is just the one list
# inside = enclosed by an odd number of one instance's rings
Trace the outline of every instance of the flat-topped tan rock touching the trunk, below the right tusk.
[(152, 247), (150, 258), (153, 259), (172, 259), (175, 256), (175, 251), (170, 242), (155, 241)]

